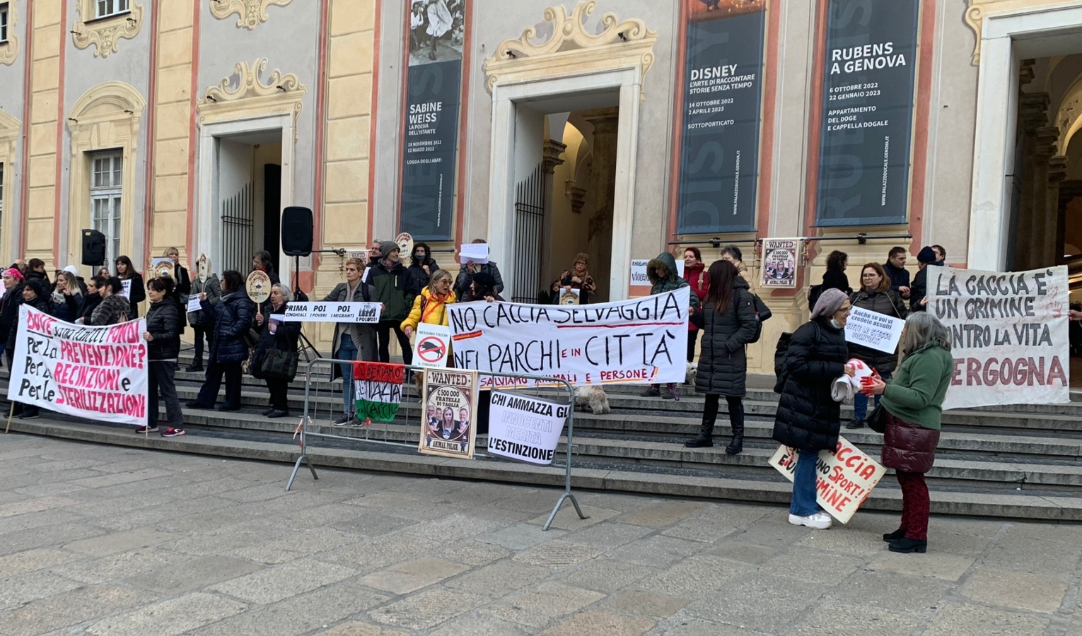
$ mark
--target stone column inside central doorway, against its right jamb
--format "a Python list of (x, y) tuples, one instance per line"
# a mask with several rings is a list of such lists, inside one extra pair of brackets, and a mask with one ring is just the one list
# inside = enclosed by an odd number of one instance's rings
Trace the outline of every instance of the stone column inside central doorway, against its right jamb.
[[(582, 114), (594, 127), (593, 174), (586, 193), (590, 215), (590, 271), (597, 283), (597, 302), (609, 299), (609, 275), (612, 271), (612, 200), (616, 195), (617, 131), (619, 108), (598, 108)], [(617, 267), (630, 266), (626, 263)]]

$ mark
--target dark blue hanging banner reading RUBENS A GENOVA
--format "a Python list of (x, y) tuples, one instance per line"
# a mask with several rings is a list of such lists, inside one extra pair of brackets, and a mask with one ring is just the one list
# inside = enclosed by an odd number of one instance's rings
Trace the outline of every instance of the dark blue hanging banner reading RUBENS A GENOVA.
[(906, 223), (919, 0), (830, 0), (816, 225)]

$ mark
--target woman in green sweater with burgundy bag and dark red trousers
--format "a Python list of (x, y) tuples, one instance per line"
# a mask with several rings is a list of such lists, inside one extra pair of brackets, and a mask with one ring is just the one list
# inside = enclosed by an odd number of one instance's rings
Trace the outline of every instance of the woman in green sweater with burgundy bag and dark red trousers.
[(865, 390), (883, 396), (886, 430), (881, 463), (894, 468), (901, 487), (901, 525), (883, 535), (890, 552), (923, 553), (928, 548), (928, 487), (939, 445), (942, 403), (954, 372), (950, 333), (935, 316), (921, 312), (906, 320), (901, 333), (901, 367), (888, 382), (870, 377)]

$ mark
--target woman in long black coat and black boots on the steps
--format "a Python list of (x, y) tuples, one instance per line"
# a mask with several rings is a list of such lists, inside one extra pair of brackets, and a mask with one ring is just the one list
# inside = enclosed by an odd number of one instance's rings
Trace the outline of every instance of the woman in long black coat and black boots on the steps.
[[(687, 273), (687, 269), (684, 269)], [(714, 421), (721, 396), (728, 403), (733, 440), (725, 452), (735, 455), (743, 450), (743, 397), (748, 357), (744, 346), (755, 337), (755, 300), (748, 282), (727, 261), (710, 265), (710, 293), (702, 310), (692, 316), (703, 330), (695, 390), (707, 394), (699, 436), (686, 442), (688, 448), (714, 446)]]

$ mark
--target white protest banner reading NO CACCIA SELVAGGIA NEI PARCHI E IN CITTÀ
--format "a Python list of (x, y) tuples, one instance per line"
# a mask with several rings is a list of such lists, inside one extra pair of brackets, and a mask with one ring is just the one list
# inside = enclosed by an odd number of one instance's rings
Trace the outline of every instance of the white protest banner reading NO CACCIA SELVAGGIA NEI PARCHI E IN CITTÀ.
[(690, 288), (596, 305), (448, 305), (454, 366), (481, 388), (536, 386), (485, 371), (549, 375), (572, 385), (683, 382)]

